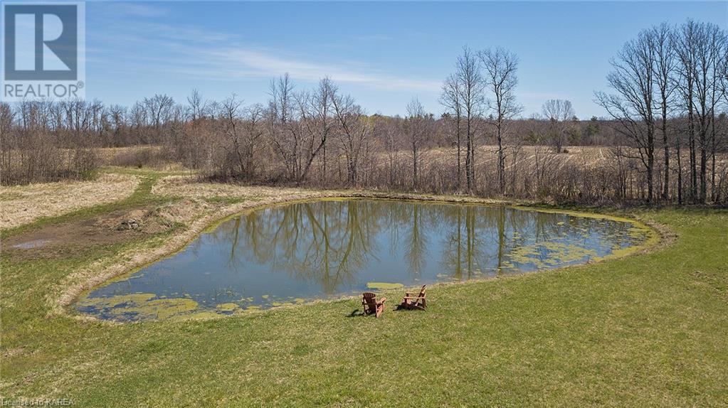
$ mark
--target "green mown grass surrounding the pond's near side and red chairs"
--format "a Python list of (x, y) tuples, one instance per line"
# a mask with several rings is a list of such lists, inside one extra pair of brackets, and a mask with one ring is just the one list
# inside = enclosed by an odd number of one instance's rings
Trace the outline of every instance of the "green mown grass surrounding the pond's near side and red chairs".
[[(140, 176), (127, 199), (1, 236), (180, 199), (154, 194), (161, 175)], [(74, 271), (162, 246), (185, 225), (52, 260), (4, 251), (0, 396), (74, 407), (728, 406), (728, 211), (616, 214), (676, 238), (620, 260), (432, 287), (429, 311), (392, 304), (381, 319), (351, 316), (353, 299), (206, 321), (50, 313), (49, 293)]]

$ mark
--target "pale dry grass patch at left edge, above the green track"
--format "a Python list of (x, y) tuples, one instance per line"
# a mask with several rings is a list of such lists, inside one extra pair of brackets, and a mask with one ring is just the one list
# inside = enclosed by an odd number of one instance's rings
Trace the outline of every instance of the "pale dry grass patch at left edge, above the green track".
[(0, 187), (0, 229), (124, 199), (138, 184), (135, 175), (104, 174), (91, 181)]

